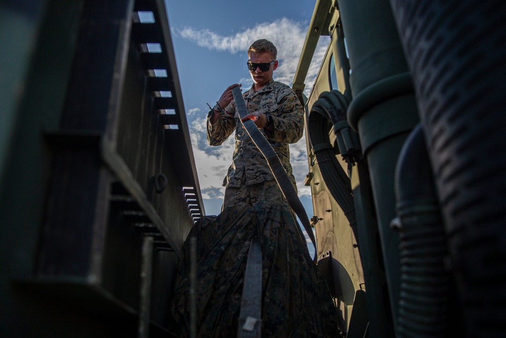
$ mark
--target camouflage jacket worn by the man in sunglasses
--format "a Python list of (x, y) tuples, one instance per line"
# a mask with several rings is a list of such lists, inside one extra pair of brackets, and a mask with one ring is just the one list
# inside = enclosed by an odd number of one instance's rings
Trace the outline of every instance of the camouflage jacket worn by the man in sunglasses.
[[(258, 92), (253, 87), (243, 93), (248, 112), (260, 111), (270, 114), (274, 132), (260, 129), (283, 164), (293, 186), (295, 177), (290, 165), (288, 143), (297, 142), (304, 132), (304, 109), (293, 92), (285, 84), (271, 80)], [(225, 108), (223, 115), (212, 125), (207, 119), (207, 141), (210, 145), (222, 144), (235, 129), (235, 150), (232, 165), (223, 181), (224, 186), (239, 187), (243, 170), (247, 184), (274, 180), (274, 175), (264, 156), (248, 133), (242, 128), (235, 101)]]

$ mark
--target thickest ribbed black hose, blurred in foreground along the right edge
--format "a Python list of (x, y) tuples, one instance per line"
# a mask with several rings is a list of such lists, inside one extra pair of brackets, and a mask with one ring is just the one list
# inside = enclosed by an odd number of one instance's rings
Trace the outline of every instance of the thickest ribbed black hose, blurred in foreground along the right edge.
[(390, 0), (469, 336), (506, 327), (506, 2)]

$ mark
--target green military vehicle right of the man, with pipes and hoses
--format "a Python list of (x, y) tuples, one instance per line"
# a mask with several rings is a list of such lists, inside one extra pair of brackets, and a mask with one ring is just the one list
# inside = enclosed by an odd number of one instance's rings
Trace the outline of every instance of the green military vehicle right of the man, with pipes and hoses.
[(315, 6), (292, 88), (306, 106), (319, 265), (347, 337), (504, 336), (504, 13)]

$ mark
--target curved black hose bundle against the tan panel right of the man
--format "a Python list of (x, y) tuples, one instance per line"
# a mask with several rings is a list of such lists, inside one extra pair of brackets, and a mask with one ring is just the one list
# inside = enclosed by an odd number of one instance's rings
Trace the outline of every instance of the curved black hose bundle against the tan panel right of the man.
[(309, 113), (308, 133), (323, 180), (334, 200), (343, 209), (356, 238), (358, 238), (355, 230), (356, 216), (350, 178), (335, 158), (328, 137), (329, 121), (332, 124), (346, 121), (347, 104), (340, 100), (340, 93), (338, 93), (336, 91), (325, 92), (316, 100)]

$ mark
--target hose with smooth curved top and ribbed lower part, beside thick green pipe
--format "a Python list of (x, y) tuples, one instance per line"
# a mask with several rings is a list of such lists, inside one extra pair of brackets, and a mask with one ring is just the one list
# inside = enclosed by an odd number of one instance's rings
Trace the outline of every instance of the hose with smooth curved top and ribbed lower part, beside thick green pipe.
[(449, 274), (446, 236), (423, 131), (407, 138), (395, 173), (401, 287), (397, 338), (447, 334)]

